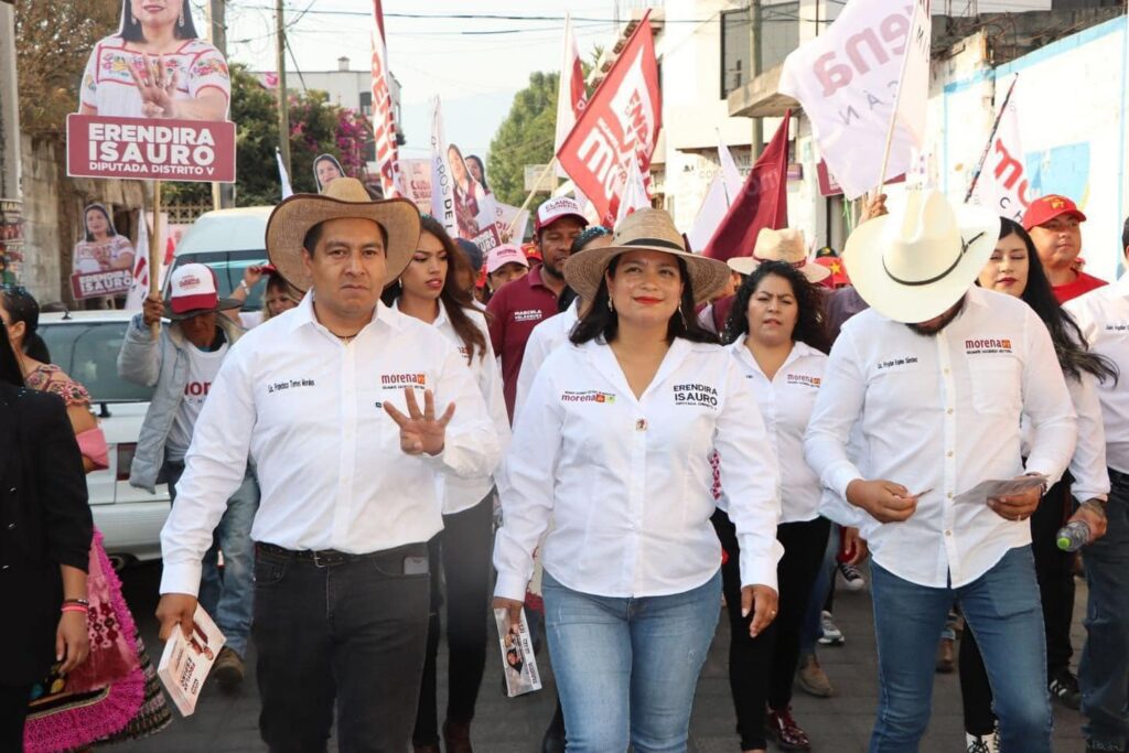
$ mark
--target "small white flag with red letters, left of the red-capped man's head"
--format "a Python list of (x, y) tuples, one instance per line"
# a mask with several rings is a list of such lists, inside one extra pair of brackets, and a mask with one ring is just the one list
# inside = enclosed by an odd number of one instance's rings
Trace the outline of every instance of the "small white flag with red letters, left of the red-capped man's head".
[(991, 209), (1016, 222), (1023, 220), (1031, 203), (1027, 198), (1031, 184), (1023, 159), (1023, 142), (1019, 140), (1018, 90), (1018, 80), (1013, 81), (971, 196), (972, 203)]

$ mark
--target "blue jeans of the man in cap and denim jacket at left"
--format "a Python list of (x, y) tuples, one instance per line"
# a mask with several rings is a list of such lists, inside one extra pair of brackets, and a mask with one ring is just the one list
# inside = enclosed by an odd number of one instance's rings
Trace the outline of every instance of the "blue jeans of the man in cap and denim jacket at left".
[[(184, 464), (165, 463), (169, 496), (176, 504), (176, 484)], [(211, 549), (204, 554), (200, 577), (200, 606), (216, 621), (227, 638), (225, 646), (240, 657), (247, 655), (251, 638), (251, 614), (255, 596), (255, 543), (251, 524), (259, 510), (259, 482), (247, 466), (243, 483), (227, 500), (227, 511), (212, 535)], [(219, 552), (224, 552), (224, 572), (219, 570)]]

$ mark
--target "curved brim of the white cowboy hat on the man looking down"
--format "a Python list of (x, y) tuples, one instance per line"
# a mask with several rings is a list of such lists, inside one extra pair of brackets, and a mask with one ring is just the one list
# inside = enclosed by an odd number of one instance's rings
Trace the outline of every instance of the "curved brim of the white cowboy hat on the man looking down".
[[(894, 322), (917, 324), (940, 316), (972, 287), (999, 239), (999, 217), (982, 207), (956, 211), (961, 237), (969, 244), (961, 260), (942, 279), (929, 284), (895, 281), (883, 265), (883, 234), (896, 219), (884, 214), (860, 225), (843, 248), (843, 266), (851, 284), (872, 308)], [(952, 253), (952, 249), (945, 249)]]

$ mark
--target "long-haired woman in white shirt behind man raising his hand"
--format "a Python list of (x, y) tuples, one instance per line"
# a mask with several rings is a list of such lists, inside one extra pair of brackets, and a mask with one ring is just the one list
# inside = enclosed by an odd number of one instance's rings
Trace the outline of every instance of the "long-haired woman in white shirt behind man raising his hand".
[[(384, 303), (400, 313), (438, 327), (452, 341), (475, 376), (502, 447), (509, 419), (501, 375), (485, 315), (458, 283), (466, 264), (462, 252), (432, 217), (422, 214), (420, 239), (411, 263), (388, 286)], [(444, 529), (428, 544), (431, 559), (431, 621), (427, 660), (412, 741), (418, 752), (439, 751), (436, 709), (436, 655), (439, 648), (440, 572), (447, 602), (447, 716), (445, 747), (470, 750), (471, 720), (487, 660), (487, 608), (490, 601), (490, 532), (493, 480), (444, 479)], [(466, 747), (460, 747), (465, 745)]]

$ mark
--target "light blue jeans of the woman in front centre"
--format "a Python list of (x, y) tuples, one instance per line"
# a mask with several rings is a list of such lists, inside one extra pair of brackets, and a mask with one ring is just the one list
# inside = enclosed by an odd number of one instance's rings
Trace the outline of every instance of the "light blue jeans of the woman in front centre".
[(542, 593), (569, 753), (685, 751), (720, 570), (682, 594), (616, 598), (567, 588), (546, 569)]

